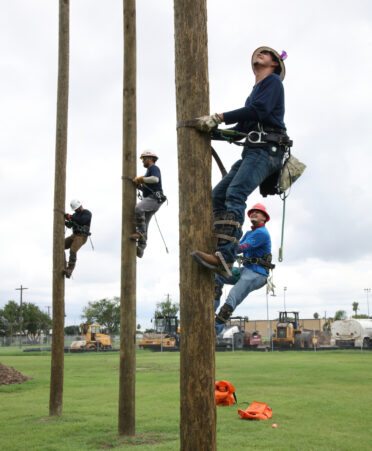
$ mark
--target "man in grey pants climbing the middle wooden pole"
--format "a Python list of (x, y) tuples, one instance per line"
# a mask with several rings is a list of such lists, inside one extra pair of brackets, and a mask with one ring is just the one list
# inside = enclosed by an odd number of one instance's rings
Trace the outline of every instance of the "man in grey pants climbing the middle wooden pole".
[(155, 164), (158, 156), (148, 150), (141, 154), (140, 159), (147, 171), (144, 176), (133, 179), (137, 188), (142, 191), (142, 200), (135, 207), (136, 232), (130, 236), (132, 240), (137, 241), (137, 257), (139, 258), (143, 257), (147, 246), (149, 222), (167, 199), (163, 194), (160, 169)]

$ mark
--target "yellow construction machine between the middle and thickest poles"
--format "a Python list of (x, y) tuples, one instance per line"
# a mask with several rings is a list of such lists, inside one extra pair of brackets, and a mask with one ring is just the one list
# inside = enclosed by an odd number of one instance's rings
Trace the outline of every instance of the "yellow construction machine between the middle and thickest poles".
[(138, 342), (142, 349), (176, 351), (180, 347), (180, 329), (176, 316), (158, 316), (154, 320), (155, 332), (144, 334)]

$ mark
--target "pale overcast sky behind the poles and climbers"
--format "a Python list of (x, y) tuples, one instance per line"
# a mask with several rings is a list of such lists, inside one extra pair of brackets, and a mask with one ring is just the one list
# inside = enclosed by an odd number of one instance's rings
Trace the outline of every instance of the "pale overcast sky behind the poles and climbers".
[[(92, 241), (66, 281), (66, 324), (88, 301), (120, 294), (123, 24), (122, 1), (70, 1), (70, 97), (66, 210), (72, 198), (93, 213)], [(372, 287), (372, 4), (368, 0), (210, 0), (210, 110), (244, 105), (252, 52), (286, 50), (285, 123), (307, 169), (286, 206), (284, 261), (278, 263), (282, 201), (256, 190), (271, 215), (276, 297), (283, 308), (367, 313)], [(52, 229), (58, 63), (58, 1), (0, 3), (0, 307), (19, 300), (52, 305)], [(179, 301), (178, 168), (173, 2), (137, 0), (137, 152), (159, 155), (169, 205), (152, 221), (137, 260), (137, 322), (150, 324), (167, 294)], [(217, 143), (226, 167), (241, 148)], [(144, 170), (138, 161), (138, 175)], [(220, 174), (213, 165), (213, 185)], [(244, 224), (244, 230), (249, 226)], [(225, 290), (225, 295), (228, 290)], [(372, 313), (372, 296), (369, 299)], [(266, 318), (264, 289), (235, 312)]]

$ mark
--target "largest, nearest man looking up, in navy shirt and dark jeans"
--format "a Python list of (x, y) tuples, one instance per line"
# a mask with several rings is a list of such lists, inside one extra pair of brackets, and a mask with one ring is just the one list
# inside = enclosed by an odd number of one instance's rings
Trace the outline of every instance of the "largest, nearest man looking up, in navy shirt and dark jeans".
[[(196, 250), (192, 257), (224, 276), (236, 259), (247, 197), (270, 175), (280, 170), (290, 142), (284, 124), (284, 59), (270, 47), (253, 52), (251, 65), (255, 85), (243, 108), (196, 119), (202, 132), (213, 132), (222, 122), (237, 123), (232, 130), (248, 134), (241, 159), (213, 189), (214, 232), (218, 238), (214, 253)], [(241, 138), (238, 138), (241, 139)]]

